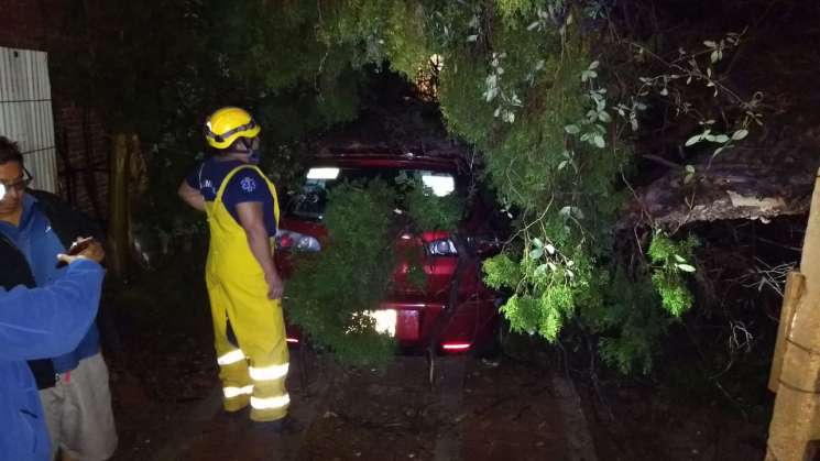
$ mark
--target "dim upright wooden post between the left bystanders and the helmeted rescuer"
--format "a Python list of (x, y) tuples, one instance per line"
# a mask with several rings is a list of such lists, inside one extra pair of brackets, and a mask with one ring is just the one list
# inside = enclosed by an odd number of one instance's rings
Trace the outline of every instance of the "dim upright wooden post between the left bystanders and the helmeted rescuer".
[(114, 134), (109, 175), (108, 267), (118, 277), (128, 275), (128, 164), (129, 136)]

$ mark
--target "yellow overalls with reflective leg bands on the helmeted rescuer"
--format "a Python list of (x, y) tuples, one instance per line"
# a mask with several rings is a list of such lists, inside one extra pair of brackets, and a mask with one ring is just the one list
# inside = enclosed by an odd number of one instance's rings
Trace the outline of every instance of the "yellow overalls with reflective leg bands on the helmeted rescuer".
[[(285, 389), (288, 354), (282, 303), (267, 299), (262, 267), (251, 253), (244, 230), (222, 202), (226, 185), (243, 168), (256, 169), (265, 178), (256, 166), (238, 166), (222, 180), (214, 201), (206, 201), (210, 249), (205, 282), (214, 316), (225, 409), (238, 411), (250, 403), (251, 419), (272, 421), (287, 415), (291, 402)], [(276, 188), (266, 178), (265, 182), (278, 226)], [(228, 340), (228, 320), (239, 349)]]

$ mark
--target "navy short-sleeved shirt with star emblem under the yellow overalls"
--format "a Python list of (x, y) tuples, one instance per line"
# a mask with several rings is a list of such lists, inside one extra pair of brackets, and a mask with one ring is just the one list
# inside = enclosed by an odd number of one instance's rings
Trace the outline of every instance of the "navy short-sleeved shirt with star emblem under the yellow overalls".
[[(192, 172), (185, 180), (188, 186), (198, 189), (206, 201), (214, 201), (226, 176), (236, 167), (242, 165), (247, 165), (247, 163), (240, 161), (220, 162), (210, 157)], [(225, 186), (225, 193), (222, 193), (222, 202), (226, 209), (239, 224), (241, 223), (237, 215), (237, 205), (250, 201), (262, 204), (267, 235), (275, 235), (276, 217), (273, 210), (273, 195), (267, 187), (267, 182), (255, 168), (244, 168), (233, 175), (231, 182)]]

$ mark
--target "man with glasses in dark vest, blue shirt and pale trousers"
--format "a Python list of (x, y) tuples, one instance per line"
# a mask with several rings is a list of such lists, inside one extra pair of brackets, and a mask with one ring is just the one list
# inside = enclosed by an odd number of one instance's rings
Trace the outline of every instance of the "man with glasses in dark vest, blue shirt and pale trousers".
[[(105, 241), (105, 233), (59, 197), (33, 189), (20, 146), (0, 135), (0, 287), (46, 287), (64, 267), (54, 255), (79, 238)], [(92, 322), (76, 348), (29, 361), (52, 442), (52, 460), (105, 461), (117, 449), (108, 366)], [(59, 453), (59, 455), (58, 455)], [(0, 453), (0, 460), (3, 460)]]

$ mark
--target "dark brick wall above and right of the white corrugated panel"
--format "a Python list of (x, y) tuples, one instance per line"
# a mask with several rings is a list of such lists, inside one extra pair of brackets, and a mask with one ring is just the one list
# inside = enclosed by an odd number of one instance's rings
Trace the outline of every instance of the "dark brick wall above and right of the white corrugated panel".
[[(81, 0), (0, 0), (0, 46), (47, 52), (50, 66), (56, 59), (70, 63), (84, 43), (69, 28), (81, 6)], [(110, 150), (106, 127), (70, 88), (55, 84), (53, 67), (51, 74), (59, 191), (77, 209), (105, 220)]]

